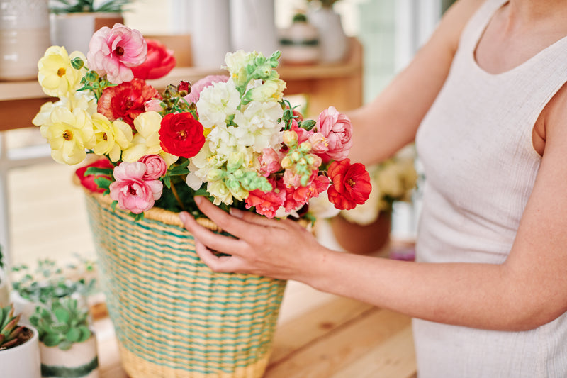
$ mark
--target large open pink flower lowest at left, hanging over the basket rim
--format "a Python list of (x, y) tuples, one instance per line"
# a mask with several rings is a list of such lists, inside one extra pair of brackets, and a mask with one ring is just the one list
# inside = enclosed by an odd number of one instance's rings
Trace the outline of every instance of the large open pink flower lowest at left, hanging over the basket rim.
[(163, 184), (159, 180), (143, 179), (147, 167), (142, 162), (122, 162), (114, 168), (110, 196), (118, 201), (120, 209), (135, 214), (152, 209), (155, 200), (162, 196)]

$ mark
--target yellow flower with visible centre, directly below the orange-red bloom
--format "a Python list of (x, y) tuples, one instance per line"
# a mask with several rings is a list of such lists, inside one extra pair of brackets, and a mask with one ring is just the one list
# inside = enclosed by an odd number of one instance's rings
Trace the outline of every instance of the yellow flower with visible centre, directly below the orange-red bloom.
[(92, 115), (96, 155), (108, 155), (111, 162), (120, 160), (120, 153), (132, 144), (132, 128), (123, 121), (111, 122), (101, 113)]

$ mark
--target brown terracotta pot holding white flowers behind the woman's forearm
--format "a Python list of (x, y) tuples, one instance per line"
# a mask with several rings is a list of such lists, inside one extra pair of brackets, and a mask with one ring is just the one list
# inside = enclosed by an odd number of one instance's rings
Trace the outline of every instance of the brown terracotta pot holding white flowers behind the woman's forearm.
[(374, 223), (361, 226), (342, 216), (331, 219), (332, 232), (337, 243), (348, 252), (360, 255), (387, 255), (392, 228), (392, 215), (381, 212)]

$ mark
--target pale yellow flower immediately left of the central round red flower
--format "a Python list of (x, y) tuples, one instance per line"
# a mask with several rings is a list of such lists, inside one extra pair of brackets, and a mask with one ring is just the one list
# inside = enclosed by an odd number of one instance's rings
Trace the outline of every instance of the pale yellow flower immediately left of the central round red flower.
[(179, 157), (164, 152), (159, 144), (161, 126), (162, 116), (157, 111), (147, 111), (137, 116), (134, 119), (137, 133), (132, 140), (132, 146), (122, 152), (122, 160), (137, 162), (142, 156), (155, 154), (160, 155), (168, 167), (176, 162)]

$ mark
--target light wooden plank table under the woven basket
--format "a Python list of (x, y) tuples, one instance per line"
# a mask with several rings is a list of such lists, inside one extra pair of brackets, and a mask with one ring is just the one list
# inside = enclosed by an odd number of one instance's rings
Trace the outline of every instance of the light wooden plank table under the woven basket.
[[(101, 378), (127, 378), (108, 336)], [(364, 377), (416, 377), (410, 318), (289, 282), (264, 378)]]

